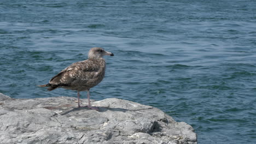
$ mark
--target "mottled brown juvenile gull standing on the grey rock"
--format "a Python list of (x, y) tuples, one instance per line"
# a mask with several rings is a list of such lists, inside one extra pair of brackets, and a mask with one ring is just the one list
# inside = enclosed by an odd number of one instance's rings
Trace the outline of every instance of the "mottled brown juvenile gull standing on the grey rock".
[(75, 62), (55, 75), (48, 84), (39, 85), (39, 87), (48, 87), (48, 91), (55, 88), (65, 88), (77, 91), (78, 107), (80, 107), (80, 93), (87, 92), (89, 109), (98, 110), (90, 104), (90, 88), (98, 85), (105, 75), (106, 62), (103, 56), (114, 56), (101, 47), (93, 47), (88, 53), (88, 59), (81, 62)]

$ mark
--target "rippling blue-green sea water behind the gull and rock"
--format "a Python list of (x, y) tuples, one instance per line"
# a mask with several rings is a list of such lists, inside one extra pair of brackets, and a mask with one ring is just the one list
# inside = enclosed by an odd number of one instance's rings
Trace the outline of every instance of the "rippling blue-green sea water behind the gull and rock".
[(199, 143), (256, 142), (256, 1), (1, 0), (0, 92), (76, 97), (36, 85), (95, 46), (115, 56), (92, 99), (158, 107)]

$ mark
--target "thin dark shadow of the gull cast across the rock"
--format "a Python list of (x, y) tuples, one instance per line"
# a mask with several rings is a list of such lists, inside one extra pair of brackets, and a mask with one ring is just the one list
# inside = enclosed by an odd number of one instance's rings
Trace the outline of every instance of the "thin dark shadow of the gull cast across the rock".
[[(98, 112), (106, 112), (106, 111), (119, 111), (119, 112), (126, 112), (126, 111), (139, 111), (139, 110), (149, 110), (149, 109), (153, 109), (153, 107), (149, 107), (147, 109), (137, 109), (137, 110), (129, 110), (129, 109), (122, 109), (122, 108), (110, 108), (110, 107), (98, 107)], [(63, 115), (67, 115), (70, 112), (74, 112), (74, 111), (80, 111), (80, 110), (88, 110), (88, 111), (92, 111), (91, 109), (89, 109), (88, 107), (84, 106), (84, 107), (76, 107), (73, 108), (71, 110), (65, 111), (60, 113), (61, 116)], [(96, 111), (96, 110), (94, 110)]]

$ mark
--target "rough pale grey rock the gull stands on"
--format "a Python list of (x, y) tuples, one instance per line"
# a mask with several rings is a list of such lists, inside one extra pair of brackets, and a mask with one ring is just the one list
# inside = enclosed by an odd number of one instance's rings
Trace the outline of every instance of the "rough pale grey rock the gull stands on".
[(110, 98), (93, 101), (95, 111), (77, 108), (75, 100), (0, 93), (0, 143), (197, 143), (190, 125), (155, 107)]

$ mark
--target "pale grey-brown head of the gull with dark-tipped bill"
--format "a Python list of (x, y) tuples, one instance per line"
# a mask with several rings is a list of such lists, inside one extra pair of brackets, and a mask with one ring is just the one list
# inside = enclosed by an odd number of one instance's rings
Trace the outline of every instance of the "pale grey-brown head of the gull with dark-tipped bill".
[(107, 52), (101, 47), (92, 47), (88, 53), (88, 58), (101, 58), (103, 56), (114, 56), (112, 52)]

